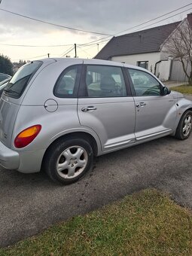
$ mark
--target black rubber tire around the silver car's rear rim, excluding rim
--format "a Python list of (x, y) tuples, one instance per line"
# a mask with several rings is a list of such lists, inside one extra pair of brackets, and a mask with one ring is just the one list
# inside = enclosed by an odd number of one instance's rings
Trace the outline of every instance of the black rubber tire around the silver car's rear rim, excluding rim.
[[(75, 178), (63, 178), (59, 175), (59, 173), (56, 170), (56, 163), (60, 154), (62, 154), (62, 152), (65, 151), (66, 148), (72, 146), (81, 146), (82, 148), (84, 148), (85, 151), (87, 151), (87, 166), (85, 167), (84, 171), (81, 172), (81, 174), (76, 176)], [(84, 139), (68, 139), (66, 141), (59, 142), (56, 145), (53, 145), (52, 148), (50, 148), (50, 152), (48, 155), (49, 156), (47, 157), (46, 164), (47, 174), (54, 181), (59, 181), (62, 184), (71, 184), (83, 178), (84, 175), (91, 169), (93, 165), (93, 149), (91, 148), (90, 143), (85, 141)]]

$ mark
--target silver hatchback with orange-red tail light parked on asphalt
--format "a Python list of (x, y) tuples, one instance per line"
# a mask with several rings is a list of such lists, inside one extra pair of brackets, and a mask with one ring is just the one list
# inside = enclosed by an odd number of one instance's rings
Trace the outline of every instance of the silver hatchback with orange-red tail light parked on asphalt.
[(192, 102), (150, 72), (97, 59), (22, 66), (0, 101), (0, 163), (70, 184), (93, 157), (162, 136), (187, 139)]

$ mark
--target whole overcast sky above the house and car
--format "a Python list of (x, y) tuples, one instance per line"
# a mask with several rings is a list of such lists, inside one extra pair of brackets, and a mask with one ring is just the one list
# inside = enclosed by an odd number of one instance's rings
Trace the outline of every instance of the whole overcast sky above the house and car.
[[(62, 26), (114, 35), (187, 4), (190, 4), (190, 0), (2, 0), (0, 8)], [(166, 16), (178, 14), (189, 8), (191, 10), (153, 26), (182, 20), (192, 11), (192, 5)], [(158, 20), (154, 22), (156, 21)], [(147, 23), (145, 26), (151, 23)], [(142, 27), (137, 29), (142, 29)], [(124, 33), (133, 30), (136, 29)], [(35, 59), (36, 56), (43, 56), (47, 53), (50, 53), (50, 56), (59, 57), (69, 50), (70, 45), (62, 47), (11, 47), (2, 44), (56, 45), (76, 43), (79, 45), (107, 36), (62, 29), (8, 14), (1, 10), (0, 35), (0, 53), (9, 56), (12, 61)], [(105, 42), (99, 43), (99, 50), (104, 45)], [(78, 47), (77, 51), (78, 57), (91, 58), (96, 55), (98, 45)], [(74, 50), (69, 55), (75, 56)]]

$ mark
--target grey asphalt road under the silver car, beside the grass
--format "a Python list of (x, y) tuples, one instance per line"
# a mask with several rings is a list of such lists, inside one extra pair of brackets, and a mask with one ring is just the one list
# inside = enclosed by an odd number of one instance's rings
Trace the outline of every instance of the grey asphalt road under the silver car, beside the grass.
[(53, 184), (43, 173), (0, 172), (0, 245), (34, 235), (145, 187), (157, 187), (192, 209), (192, 136), (157, 139), (96, 159), (76, 184)]

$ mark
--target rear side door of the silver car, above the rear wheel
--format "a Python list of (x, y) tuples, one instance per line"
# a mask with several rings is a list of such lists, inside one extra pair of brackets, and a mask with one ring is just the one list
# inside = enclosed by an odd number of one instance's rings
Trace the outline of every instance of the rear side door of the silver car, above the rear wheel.
[(99, 136), (102, 151), (135, 142), (135, 104), (124, 78), (121, 66), (84, 65), (78, 117)]

